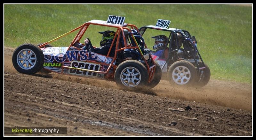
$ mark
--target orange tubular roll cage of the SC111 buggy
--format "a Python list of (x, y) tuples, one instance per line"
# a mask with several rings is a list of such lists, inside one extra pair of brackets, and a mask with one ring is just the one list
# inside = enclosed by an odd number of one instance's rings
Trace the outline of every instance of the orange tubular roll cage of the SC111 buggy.
[[(72, 48), (76, 48), (77, 50), (80, 50), (81, 48), (77, 48), (75, 47), (75, 43), (79, 42), (82, 38), (82, 36), (84, 35), (85, 31), (87, 30), (87, 28), (90, 26), (90, 25), (98, 25), (98, 26), (108, 26), (108, 27), (114, 27), (116, 28), (116, 34), (114, 36), (114, 39), (111, 43), (111, 46), (109, 48), (109, 51), (108, 51), (108, 54), (107, 54), (107, 57), (110, 57), (109, 54), (110, 54), (110, 51), (113, 47), (113, 44), (116, 40), (116, 36), (117, 36), (117, 41), (116, 41), (116, 50), (115, 50), (115, 56), (114, 57), (111, 57), (113, 58), (112, 62), (110, 64), (106, 63), (106, 60), (104, 62), (104, 65), (108, 65), (108, 69), (107, 71), (95, 71), (95, 70), (87, 70), (87, 69), (80, 69), (80, 68), (74, 68), (74, 67), (68, 67), (68, 66), (64, 66), (62, 65), (63, 68), (67, 68), (67, 69), (77, 69), (77, 70), (85, 70), (85, 71), (90, 71), (90, 72), (96, 72), (96, 73), (104, 73), (106, 74), (106, 78), (109, 77), (108, 75), (108, 72), (111, 68), (111, 66), (113, 65), (113, 63), (116, 61), (116, 58), (117, 58), (117, 55), (118, 53), (120, 53), (121, 51), (123, 51), (124, 49), (138, 49), (139, 52), (140, 52), (140, 55), (141, 55), (141, 58), (144, 60), (145, 64), (146, 64), (146, 68), (148, 70), (148, 82), (150, 83), (152, 80), (153, 80), (153, 75), (154, 75), (154, 71), (155, 71), (155, 62), (152, 58), (152, 56), (150, 55), (150, 60), (151, 60), (151, 63), (148, 63), (147, 60), (144, 59), (143, 55), (144, 55), (144, 49), (143, 48), (140, 48), (140, 46), (138, 45), (138, 42), (136, 41), (135, 39), (135, 33), (138, 33), (139, 32), (139, 29), (135, 26), (135, 25), (132, 25), (132, 24), (127, 24), (127, 23), (124, 23), (123, 25), (116, 25), (116, 24), (110, 24), (110, 23), (107, 23), (107, 21), (103, 21), (103, 20), (91, 20), (89, 22), (86, 22), (84, 23), (83, 25), (51, 40), (51, 41), (48, 41), (48, 42), (45, 42), (44, 44), (38, 46), (39, 48), (43, 48), (45, 45), (53, 42), (53, 41), (56, 41), (58, 39), (60, 39), (61, 37), (64, 37), (66, 36), (67, 34), (69, 33), (72, 33), (78, 29), (79, 32), (76, 34), (75, 38), (73, 39), (73, 41), (71, 42), (71, 44), (69, 45), (68, 49), (70, 47)], [(127, 26), (130, 26), (131, 29), (129, 29)], [(128, 31), (128, 33), (125, 33), (125, 31)], [(137, 31), (137, 32), (136, 32)], [(129, 36), (130, 40), (131, 40), (131, 44), (127, 44), (127, 35)], [(122, 37), (122, 38), (121, 38)], [(123, 41), (123, 43), (121, 43), (120, 41)], [(143, 40), (143, 39), (142, 39)], [(145, 48), (147, 48), (147, 45), (144, 43), (144, 46)], [(114, 67), (116, 68), (116, 66), (114, 65)]]

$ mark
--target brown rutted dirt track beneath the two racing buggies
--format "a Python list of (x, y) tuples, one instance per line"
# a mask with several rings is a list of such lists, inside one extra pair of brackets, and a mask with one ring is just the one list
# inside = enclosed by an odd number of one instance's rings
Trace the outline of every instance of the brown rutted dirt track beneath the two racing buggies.
[(147, 92), (122, 91), (114, 82), (20, 74), (14, 49), (4, 49), (4, 127), (67, 127), (78, 136), (252, 135), (250, 85), (211, 80), (181, 90), (163, 80)]

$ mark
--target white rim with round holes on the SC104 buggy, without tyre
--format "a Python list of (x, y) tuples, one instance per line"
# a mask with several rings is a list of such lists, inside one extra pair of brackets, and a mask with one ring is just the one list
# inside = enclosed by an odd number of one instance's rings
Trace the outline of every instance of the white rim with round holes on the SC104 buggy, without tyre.
[(172, 71), (172, 80), (178, 85), (187, 84), (190, 78), (190, 70), (185, 66), (178, 66)]

